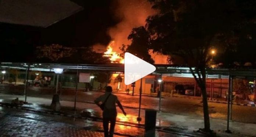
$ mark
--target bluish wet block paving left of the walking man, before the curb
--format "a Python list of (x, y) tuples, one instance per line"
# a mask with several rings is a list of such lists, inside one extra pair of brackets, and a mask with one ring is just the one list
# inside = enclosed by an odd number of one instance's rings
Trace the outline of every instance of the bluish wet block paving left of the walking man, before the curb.
[[(103, 137), (103, 133), (54, 121), (51, 117), (1, 108), (1, 137)], [(90, 124), (85, 124), (90, 126)]]

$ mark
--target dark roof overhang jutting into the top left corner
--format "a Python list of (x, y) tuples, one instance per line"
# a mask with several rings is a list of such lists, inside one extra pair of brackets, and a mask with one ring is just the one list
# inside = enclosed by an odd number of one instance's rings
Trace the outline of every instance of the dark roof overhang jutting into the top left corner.
[(1, 0), (0, 22), (48, 27), (82, 9), (70, 0)]

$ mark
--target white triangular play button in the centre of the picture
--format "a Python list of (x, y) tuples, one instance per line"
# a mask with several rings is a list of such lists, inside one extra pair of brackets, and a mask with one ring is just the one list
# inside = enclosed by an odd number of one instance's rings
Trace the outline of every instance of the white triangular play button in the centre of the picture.
[(124, 54), (124, 83), (129, 85), (154, 72), (156, 67), (126, 52)]

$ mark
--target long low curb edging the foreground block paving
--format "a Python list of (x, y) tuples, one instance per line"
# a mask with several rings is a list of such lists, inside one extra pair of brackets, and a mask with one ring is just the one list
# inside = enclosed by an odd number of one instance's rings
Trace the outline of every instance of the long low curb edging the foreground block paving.
[[(70, 117), (70, 118), (88, 119), (88, 120), (97, 121), (97, 122), (102, 121), (102, 118), (98, 118), (98, 117), (78, 117), (78, 116), (75, 116), (75, 115), (63, 114), (61, 112), (40, 111), (40, 110), (26, 109), (26, 108), (24, 108), (22, 106), (13, 106), (11, 104), (0, 103), (0, 107), (7, 107), (7, 108), (10, 108), (10, 109), (20, 109), (20, 110), (32, 111), (32, 112), (35, 112), (35, 113), (59, 115), (59, 116)], [(135, 128), (144, 128), (144, 124), (137, 124), (137, 123), (132, 123), (132, 122), (117, 121), (116, 124), (124, 125), (124, 126), (131, 126), (131, 127), (135, 127)], [(178, 134), (178, 135), (188, 136), (188, 137), (201, 137), (202, 136), (202, 135), (193, 135), (193, 134), (186, 134), (186, 133), (179, 133), (179, 132), (170, 132), (170, 131), (163, 130), (162, 127), (158, 127), (158, 126), (156, 127), (155, 130), (159, 131), (159, 132), (165, 132), (165, 133), (170, 133), (170, 134)], [(126, 137), (134, 137), (134, 136), (127, 135), (127, 134), (120, 134), (120, 133), (114, 133), (114, 134), (120, 135), (120, 136), (126, 136)]]

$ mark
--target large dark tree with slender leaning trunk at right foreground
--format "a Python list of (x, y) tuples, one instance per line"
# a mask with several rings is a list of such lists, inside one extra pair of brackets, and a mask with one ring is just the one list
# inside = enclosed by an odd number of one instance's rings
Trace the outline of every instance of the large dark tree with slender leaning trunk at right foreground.
[(149, 43), (149, 48), (154, 52), (180, 57), (182, 60), (179, 63), (188, 65), (202, 91), (203, 131), (211, 132), (206, 93), (206, 68), (210, 50), (217, 49), (218, 54), (221, 54), (237, 46), (239, 38), (244, 35), (241, 30), (254, 23), (256, 1), (148, 1), (157, 13), (146, 20), (149, 42), (145, 44)]

